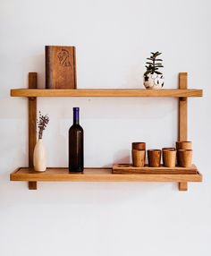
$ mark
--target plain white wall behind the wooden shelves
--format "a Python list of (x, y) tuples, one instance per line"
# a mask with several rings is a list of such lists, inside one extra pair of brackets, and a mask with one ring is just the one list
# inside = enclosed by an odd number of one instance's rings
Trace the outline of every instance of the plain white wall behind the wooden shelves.
[[(0, 255), (211, 255), (210, 8), (206, 0), (0, 2)], [(44, 46), (77, 47), (78, 88), (142, 88), (150, 51), (163, 53), (165, 89), (179, 72), (204, 98), (189, 100), (189, 140), (203, 183), (27, 183), (9, 181), (27, 166), (29, 72), (44, 87)], [(132, 141), (173, 146), (173, 98), (38, 98), (50, 116), (48, 166), (67, 166), (72, 107), (80, 107), (85, 165), (130, 159)]]

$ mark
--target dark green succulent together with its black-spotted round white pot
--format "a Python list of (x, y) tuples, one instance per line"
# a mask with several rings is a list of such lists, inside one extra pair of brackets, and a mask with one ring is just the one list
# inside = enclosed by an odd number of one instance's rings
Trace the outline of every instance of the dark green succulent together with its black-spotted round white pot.
[(164, 67), (162, 59), (158, 59), (157, 56), (161, 53), (151, 53), (150, 57), (147, 58), (148, 62), (145, 66), (147, 71), (144, 73), (144, 86), (146, 89), (162, 89), (165, 81), (164, 75), (159, 71), (160, 68)]

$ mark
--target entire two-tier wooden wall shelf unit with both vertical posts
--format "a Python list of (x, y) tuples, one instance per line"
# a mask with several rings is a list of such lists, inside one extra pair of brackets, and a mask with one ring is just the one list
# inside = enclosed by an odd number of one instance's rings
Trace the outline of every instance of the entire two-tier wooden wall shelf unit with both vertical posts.
[(37, 73), (29, 73), (29, 89), (11, 90), (12, 97), (26, 97), (29, 101), (29, 167), (19, 167), (11, 181), (27, 181), (36, 190), (38, 182), (175, 182), (180, 191), (188, 190), (188, 182), (202, 182), (196, 166), (190, 168), (143, 167), (141, 174), (123, 174), (112, 168), (85, 168), (83, 174), (69, 174), (65, 167), (49, 167), (44, 173), (33, 169), (33, 150), (37, 141), (38, 97), (174, 97), (178, 98), (178, 141), (188, 140), (188, 97), (202, 97), (202, 90), (188, 90), (188, 74), (179, 73), (179, 89), (174, 90), (38, 90)]

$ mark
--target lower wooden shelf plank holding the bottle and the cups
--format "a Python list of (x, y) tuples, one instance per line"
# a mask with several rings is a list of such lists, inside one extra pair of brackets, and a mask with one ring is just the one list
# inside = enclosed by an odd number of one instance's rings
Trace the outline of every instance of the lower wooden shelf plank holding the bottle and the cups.
[[(65, 167), (48, 167), (44, 173), (35, 172), (33, 168), (20, 167), (10, 175), (10, 180), (25, 182), (176, 182), (181, 184), (202, 182), (202, 175), (196, 166), (192, 166), (195, 172), (185, 172), (185, 168), (181, 168), (181, 173), (178, 171), (173, 173), (173, 170), (168, 173), (165, 167), (160, 167), (159, 173), (154, 173), (153, 169), (148, 167), (148, 173), (143, 174), (113, 174), (112, 168), (85, 168), (81, 174), (70, 174), (68, 168)], [(180, 190), (187, 190), (180, 185)]]

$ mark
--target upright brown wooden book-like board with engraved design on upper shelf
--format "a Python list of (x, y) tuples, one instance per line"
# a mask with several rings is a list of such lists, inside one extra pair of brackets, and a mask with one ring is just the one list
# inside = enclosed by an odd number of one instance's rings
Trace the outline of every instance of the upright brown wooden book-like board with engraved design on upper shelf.
[(46, 89), (76, 89), (75, 47), (46, 46)]

